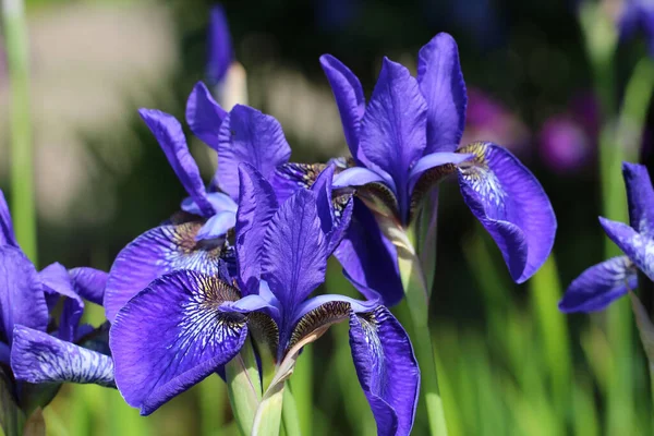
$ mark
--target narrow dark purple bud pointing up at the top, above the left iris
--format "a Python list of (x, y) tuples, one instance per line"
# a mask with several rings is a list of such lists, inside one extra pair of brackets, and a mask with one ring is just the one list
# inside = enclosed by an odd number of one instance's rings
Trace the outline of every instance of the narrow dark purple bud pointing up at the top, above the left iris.
[(216, 84), (222, 81), (234, 58), (227, 16), (220, 4), (211, 8), (207, 39), (207, 76)]

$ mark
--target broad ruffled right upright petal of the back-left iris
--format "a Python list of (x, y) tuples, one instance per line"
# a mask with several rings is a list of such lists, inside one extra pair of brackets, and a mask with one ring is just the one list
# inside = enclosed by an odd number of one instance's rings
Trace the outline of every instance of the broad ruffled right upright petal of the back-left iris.
[(239, 165), (252, 165), (266, 179), (289, 160), (291, 147), (281, 125), (271, 116), (237, 105), (220, 128), (218, 185), (232, 198), (239, 197)]

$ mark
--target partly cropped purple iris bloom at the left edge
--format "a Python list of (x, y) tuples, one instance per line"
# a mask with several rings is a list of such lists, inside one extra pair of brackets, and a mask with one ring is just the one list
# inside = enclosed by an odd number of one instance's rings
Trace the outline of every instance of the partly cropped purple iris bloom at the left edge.
[[(86, 267), (66, 270), (58, 263), (37, 271), (15, 240), (2, 192), (0, 228), (0, 368), (11, 367), (16, 380), (29, 384), (114, 386), (106, 326), (80, 324), (83, 300), (101, 304), (107, 274)], [(60, 299), (57, 323), (52, 311)], [(23, 387), (16, 387), (20, 401)]]

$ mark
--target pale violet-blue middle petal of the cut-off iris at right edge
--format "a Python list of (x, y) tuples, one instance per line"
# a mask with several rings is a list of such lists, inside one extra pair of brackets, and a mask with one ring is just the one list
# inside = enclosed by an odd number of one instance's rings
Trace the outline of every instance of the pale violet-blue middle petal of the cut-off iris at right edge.
[(600, 223), (608, 238), (635, 264), (635, 266), (654, 280), (654, 239), (638, 233), (631, 227), (600, 217)]

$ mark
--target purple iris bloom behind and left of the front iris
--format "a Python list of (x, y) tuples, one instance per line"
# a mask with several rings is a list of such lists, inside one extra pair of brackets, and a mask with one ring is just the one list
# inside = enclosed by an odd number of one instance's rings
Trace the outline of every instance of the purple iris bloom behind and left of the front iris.
[(190, 196), (181, 204), (182, 214), (141, 234), (118, 254), (105, 298), (110, 322), (132, 296), (167, 272), (218, 274), (218, 259), (233, 251), (227, 233), (237, 218), (239, 164), (250, 162), (270, 177), (291, 155), (275, 118), (242, 105), (228, 113), (198, 83), (187, 100), (186, 121), (195, 136), (218, 154), (218, 170), (205, 189), (180, 122), (158, 110), (141, 109), (140, 113)]

